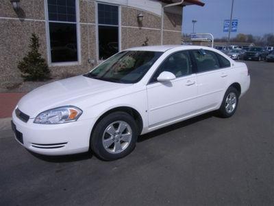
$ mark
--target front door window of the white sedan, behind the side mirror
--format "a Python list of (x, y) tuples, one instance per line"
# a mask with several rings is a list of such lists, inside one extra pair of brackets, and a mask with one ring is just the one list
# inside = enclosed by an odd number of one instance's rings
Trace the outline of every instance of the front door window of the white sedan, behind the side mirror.
[(157, 78), (163, 71), (173, 73), (176, 78), (192, 73), (190, 54), (187, 51), (176, 52), (167, 57), (153, 74), (149, 83), (158, 82)]

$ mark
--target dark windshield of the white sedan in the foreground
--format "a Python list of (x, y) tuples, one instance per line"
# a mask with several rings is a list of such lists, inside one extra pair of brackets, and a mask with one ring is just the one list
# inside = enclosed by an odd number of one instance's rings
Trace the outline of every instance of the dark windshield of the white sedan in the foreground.
[(124, 51), (105, 60), (84, 76), (104, 80), (134, 84), (145, 76), (153, 63), (163, 52)]

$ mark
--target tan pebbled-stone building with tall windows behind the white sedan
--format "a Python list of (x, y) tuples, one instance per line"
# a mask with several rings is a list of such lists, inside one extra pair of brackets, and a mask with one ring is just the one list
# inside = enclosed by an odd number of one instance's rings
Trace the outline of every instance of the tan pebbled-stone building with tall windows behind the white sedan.
[(32, 32), (40, 38), (40, 52), (53, 76), (84, 73), (128, 47), (181, 44), (184, 6), (203, 3), (184, 0), (163, 8), (177, 2), (1, 0), (0, 82), (20, 79), (17, 64)]

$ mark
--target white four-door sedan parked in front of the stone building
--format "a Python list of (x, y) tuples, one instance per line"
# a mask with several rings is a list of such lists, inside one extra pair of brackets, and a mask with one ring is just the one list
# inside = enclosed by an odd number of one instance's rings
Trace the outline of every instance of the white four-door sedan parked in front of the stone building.
[(33, 152), (91, 149), (114, 160), (134, 150), (138, 135), (209, 111), (232, 116), (249, 84), (245, 63), (216, 49), (135, 47), (89, 73), (34, 89), (14, 109), (12, 128)]

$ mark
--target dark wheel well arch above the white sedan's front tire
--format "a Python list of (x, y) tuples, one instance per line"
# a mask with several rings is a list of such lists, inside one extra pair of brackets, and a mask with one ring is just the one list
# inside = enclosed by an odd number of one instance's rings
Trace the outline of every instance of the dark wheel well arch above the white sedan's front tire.
[[(136, 124), (138, 126), (138, 133), (140, 134), (142, 132), (142, 126), (143, 126), (142, 117), (138, 113), (138, 111), (136, 111), (134, 108), (129, 106), (119, 106), (116, 108), (112, 108), (109, 111), (103, 113), (103, 115), (101, 115), (101, 117), (99, 117), (99, 119), (97, 119), (97, 121), (95, 122), (95, 126), (98, 124), (98, 122), (101, 121), (101, 119), (103, 119), (103, 117), (105, 117), (106, 115), (109, 115), (110, 113), (114, 113), (116, 111), (123, 111), (131, 115), (135, 119)], [(93, 126), (92, 130), (94, 130), (95, 126)]]

